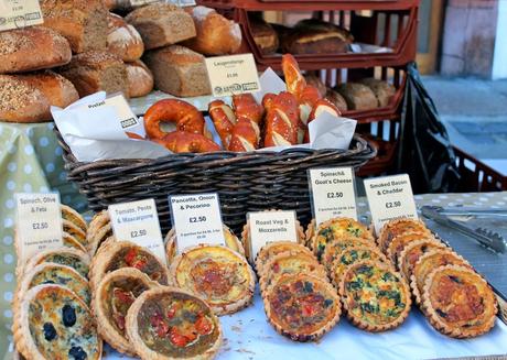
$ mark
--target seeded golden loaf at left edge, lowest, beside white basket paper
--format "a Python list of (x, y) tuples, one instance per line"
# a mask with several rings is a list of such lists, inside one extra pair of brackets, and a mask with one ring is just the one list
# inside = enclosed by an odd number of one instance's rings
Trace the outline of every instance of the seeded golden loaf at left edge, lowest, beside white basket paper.
[(0, 120), (41, 122), (52, 105), (65, 108), (78, 99), (74, 86), (53, 72), (0, 75)]

